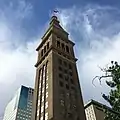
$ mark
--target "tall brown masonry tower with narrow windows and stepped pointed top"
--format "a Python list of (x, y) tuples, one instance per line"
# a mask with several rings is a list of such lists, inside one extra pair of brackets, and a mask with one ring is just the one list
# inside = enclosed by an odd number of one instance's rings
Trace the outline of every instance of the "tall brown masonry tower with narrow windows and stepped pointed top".
[(56, 16), (37, 47), (32, 120), (86, 120), (74, 43)]

